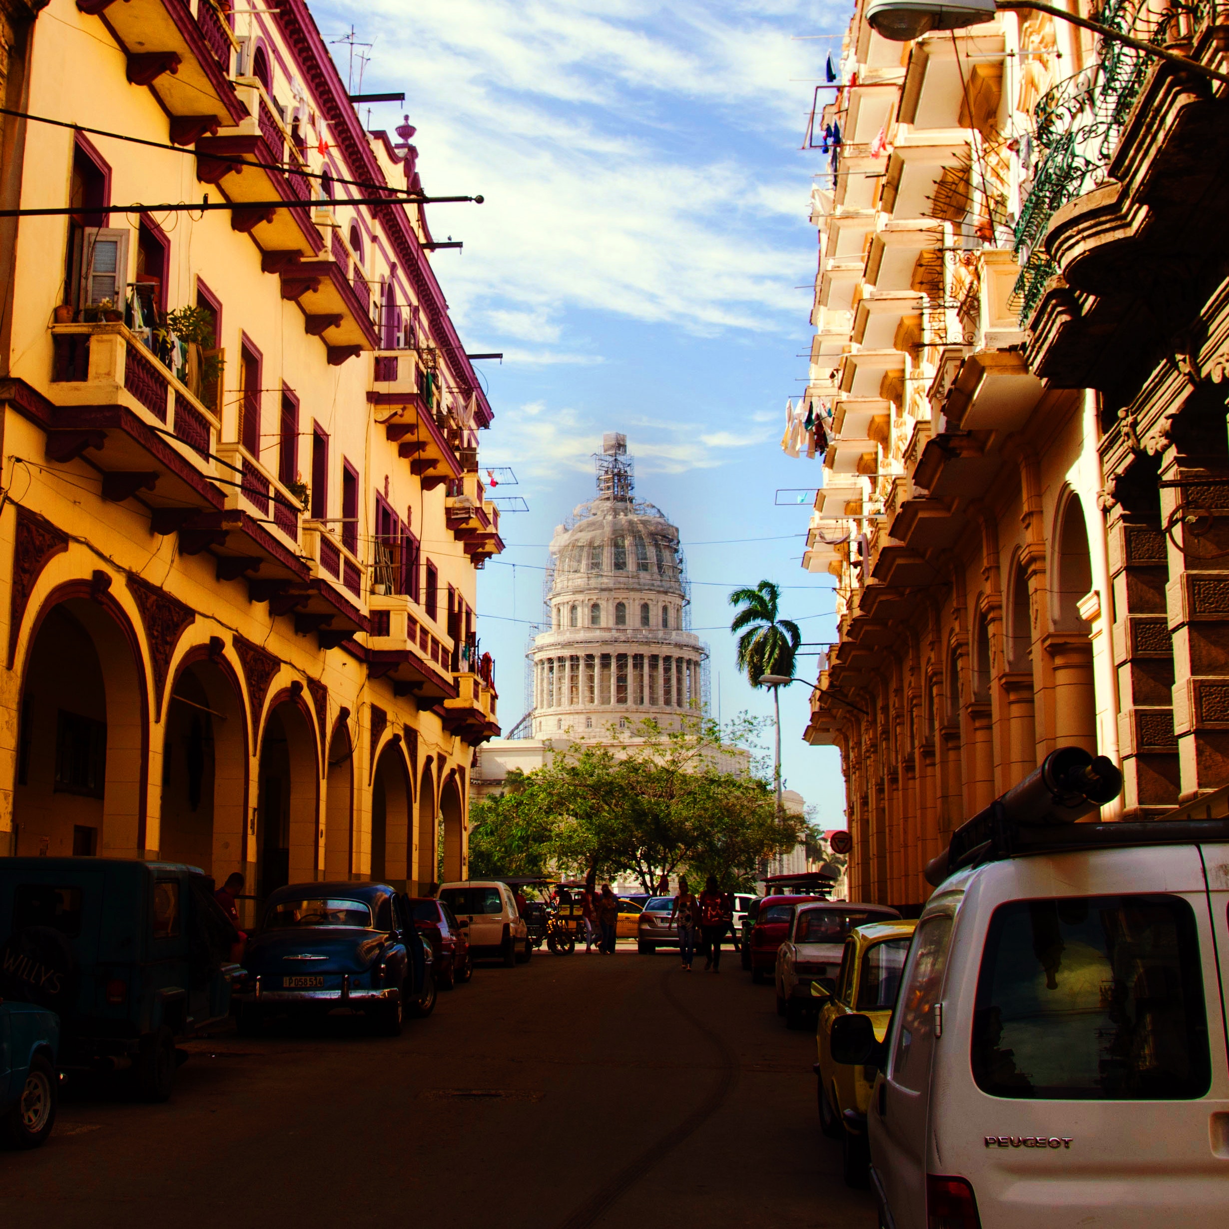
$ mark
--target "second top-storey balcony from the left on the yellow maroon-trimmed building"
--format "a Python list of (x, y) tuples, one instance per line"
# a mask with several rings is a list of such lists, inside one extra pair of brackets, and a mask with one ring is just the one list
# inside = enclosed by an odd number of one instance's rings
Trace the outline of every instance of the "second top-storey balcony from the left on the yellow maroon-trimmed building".
[[(206, 2), (206, 0), (200, 0)], [(286, 252), (316, 256), (324, 247), (308, 206), (301, 209), (245, 208), (245, 202), (307, 200), (308, 181), (300, 173), (306, 162), (290, 141), (273, 100), (256, 77), (238, 77), (236, 95), (242, 111), (231, 127), (197, 141), (197, 176), (216, 184), (235, 208), (231, 226), (251, 235), (265, 253)], [(254, 162), (290, 162), (285, 171)], [(236, 161), (240, 160), (240, 161)]]

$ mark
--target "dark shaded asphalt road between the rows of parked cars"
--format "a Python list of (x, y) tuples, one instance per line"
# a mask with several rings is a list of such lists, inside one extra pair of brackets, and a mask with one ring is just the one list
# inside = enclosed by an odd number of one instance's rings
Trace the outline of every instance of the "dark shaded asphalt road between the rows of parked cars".
[(166, 1105), (66, 1089), (0, 1223), (874, 1229), (820, 1134), (814, 1037), (726, 952), (479, 965), (399, 1039), (334, 1016), (194, 1041)]

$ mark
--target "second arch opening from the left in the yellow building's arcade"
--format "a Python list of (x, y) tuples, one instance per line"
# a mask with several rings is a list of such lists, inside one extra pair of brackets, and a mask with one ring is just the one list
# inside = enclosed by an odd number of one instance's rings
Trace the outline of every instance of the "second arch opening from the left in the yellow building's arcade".
[(219, 884), (247, 870), (247, 720), (243, 687), (221, 640), (189, 648), (171, 675), (161, 723), (159, 852)]

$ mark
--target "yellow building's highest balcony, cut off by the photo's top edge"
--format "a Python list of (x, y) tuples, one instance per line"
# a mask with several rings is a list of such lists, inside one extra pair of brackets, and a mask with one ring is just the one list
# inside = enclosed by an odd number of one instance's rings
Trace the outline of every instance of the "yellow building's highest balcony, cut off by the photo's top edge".
[(111, 27), (128, 80), (157, 96), (176, 144), (242, 118), (229, 79), (234, 37), (210, 0), (197, 0), (195, 16), (184, 0), (77, 0), (77, 9)]

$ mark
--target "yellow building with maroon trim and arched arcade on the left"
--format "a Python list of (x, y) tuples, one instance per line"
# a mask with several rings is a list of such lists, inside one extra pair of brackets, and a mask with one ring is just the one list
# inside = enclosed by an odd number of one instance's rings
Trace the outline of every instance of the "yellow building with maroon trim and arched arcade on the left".
[(501, 542), (422, 199), (381, 203), (423, 198), (413, 129), (364, 132), (297, 0), (27, 16), (0, 850), (240, 870), (256, 897), (463, 876)]

